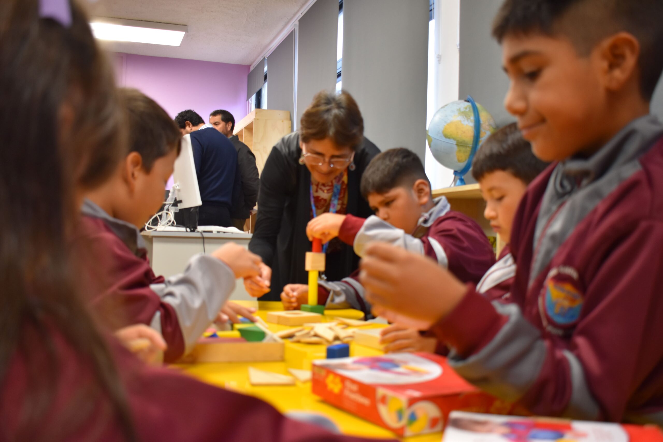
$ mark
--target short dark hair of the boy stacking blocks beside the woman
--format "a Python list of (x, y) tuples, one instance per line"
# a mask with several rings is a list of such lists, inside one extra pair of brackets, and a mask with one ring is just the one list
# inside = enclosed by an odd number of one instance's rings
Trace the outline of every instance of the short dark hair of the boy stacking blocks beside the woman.
[(385, 150), (371, 160), (361, 176), (361, 195), (367, 199), (371, 193), (387, 193), (393, 188), (410, 187), (416, 180), (428, 181), (424, 164), (404, 147)]

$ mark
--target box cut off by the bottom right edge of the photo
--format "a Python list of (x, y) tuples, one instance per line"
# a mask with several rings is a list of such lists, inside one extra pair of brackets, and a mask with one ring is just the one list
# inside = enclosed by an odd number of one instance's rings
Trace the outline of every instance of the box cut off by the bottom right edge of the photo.
[(452, 412), (442, 442), (663, 442), (654, 425)]

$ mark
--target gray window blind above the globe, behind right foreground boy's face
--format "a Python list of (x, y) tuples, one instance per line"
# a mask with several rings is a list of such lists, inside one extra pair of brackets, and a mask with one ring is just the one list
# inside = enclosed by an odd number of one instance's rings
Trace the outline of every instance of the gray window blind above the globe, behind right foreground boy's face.
[(502, 70), (502, 50), (491, 36), (493, 17), (503, 0), (461, 0), (458, 97), (472, 95), (498, 126), (515, 119), (504, 109), (509, 79)]

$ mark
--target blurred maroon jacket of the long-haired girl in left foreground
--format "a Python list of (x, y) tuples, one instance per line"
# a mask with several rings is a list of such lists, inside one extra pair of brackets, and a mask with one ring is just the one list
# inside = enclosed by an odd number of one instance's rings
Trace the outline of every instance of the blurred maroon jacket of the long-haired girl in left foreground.
[[(56, 360), (48, 359), (44, 342), (50, 339)], [(335, 435), (286, 418), (271, 405), (230, 392), (167, 368), (154, 368), (135, 359), (111, 337), (115, 357), (138, 440), (142, 442), (360, 442), (367, 439)], [(95, 385), (88, 363), (56, 330), (38, 339), (36, 362), (44, 365), (42, 380), (54, 374), (52, 402), (46, 419), (31, 428), (27, 440), (54, 442), (125, 442), (109, 401)], [(55, 362), (55, 363), (54, 363)], [(38, 365), (37, 365), (38, 366)], [(48, 367), (48, 368), (46, 368)], [(21, 355), (15, 355), (0, 386), (0, 441), (14, 441), (28, 398), (30, 378)], [(34, 382), (30, 382), (34, 386)], [(38, 439), (42, 436), (43, 439)], [(5, 437), (7, 439), (5, 439)]]

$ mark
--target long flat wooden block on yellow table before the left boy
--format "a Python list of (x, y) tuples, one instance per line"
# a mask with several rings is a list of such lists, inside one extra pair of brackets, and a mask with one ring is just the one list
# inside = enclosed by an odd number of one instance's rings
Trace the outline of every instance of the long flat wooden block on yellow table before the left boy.
[(285, 346), (282, 342), (247, 342), (241, 338), (200, 339), (183, 362), (274, 362), (283, 360)]

